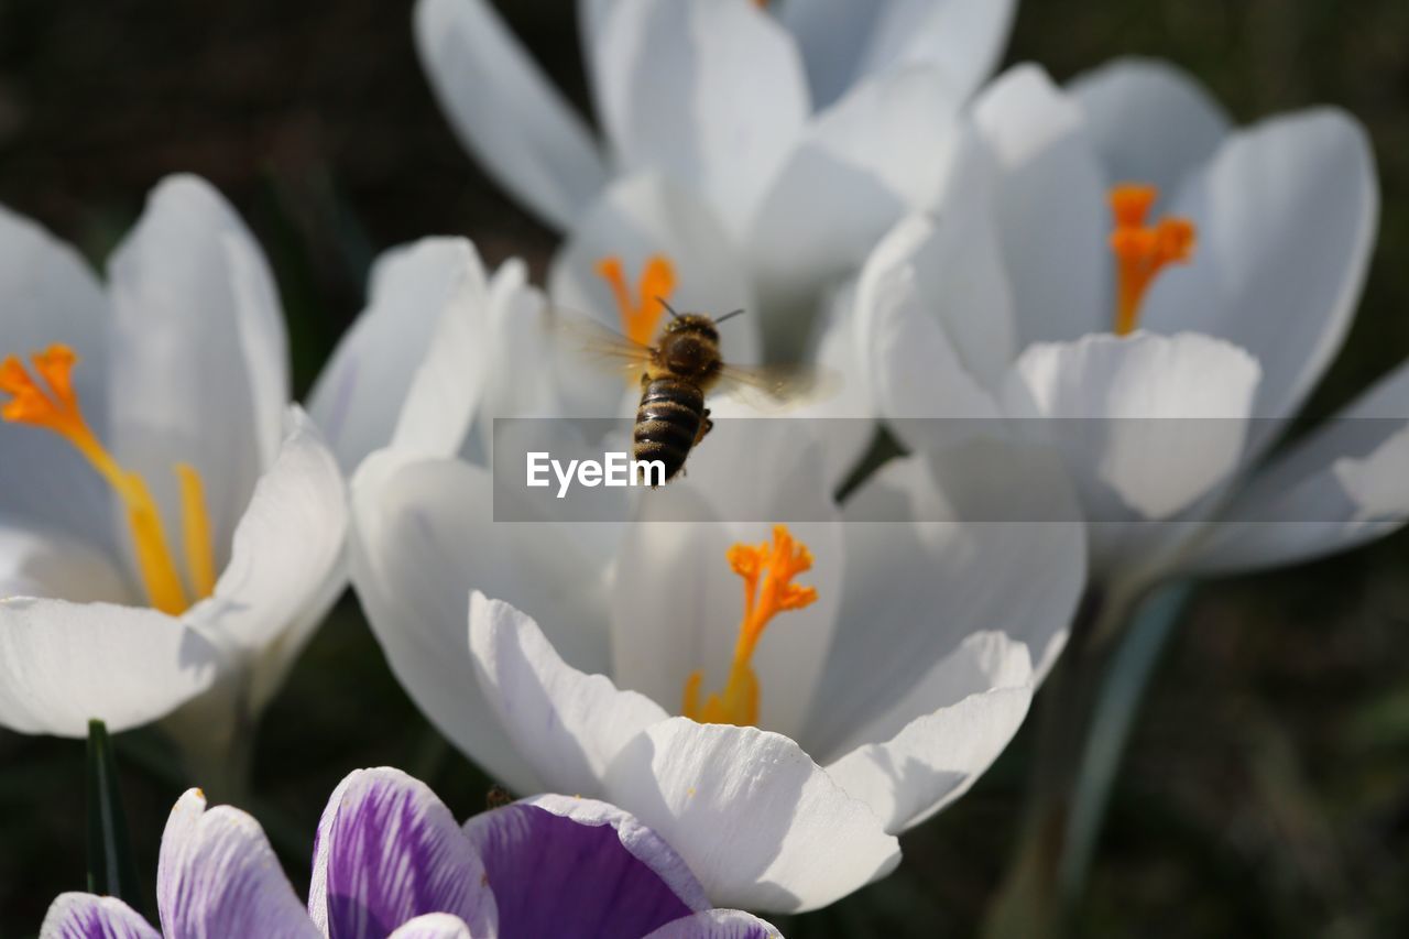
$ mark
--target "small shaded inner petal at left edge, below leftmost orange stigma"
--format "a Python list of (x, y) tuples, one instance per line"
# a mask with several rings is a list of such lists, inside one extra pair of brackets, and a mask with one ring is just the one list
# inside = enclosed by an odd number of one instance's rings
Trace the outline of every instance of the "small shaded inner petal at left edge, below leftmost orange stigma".
[(113, 558), (99, 547), (63, 532), (4, 522), (0, 522), (0, 596), (141, 602)]

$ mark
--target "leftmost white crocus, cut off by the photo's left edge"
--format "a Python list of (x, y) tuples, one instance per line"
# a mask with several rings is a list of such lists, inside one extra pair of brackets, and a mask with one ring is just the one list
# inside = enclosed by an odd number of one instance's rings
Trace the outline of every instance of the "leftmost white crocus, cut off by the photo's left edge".
[(192, 702), (218, 759), (344, 582), (345, 493), (289, 405), (275, 285), (207, 183), (151, 195), (100, 285), (0, 213), (0, 725)]

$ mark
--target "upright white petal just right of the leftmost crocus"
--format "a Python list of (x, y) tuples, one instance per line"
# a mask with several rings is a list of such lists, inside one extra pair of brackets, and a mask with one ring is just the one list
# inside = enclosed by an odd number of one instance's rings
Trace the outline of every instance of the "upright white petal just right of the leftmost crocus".
[[(344, 472), (393, 436), (435, 455), (458, 450), (482, 382), (473, 333), (486, 297), (479, 254), (464, 238), (423, 238), (376, 259), (371, 302), (309, 399)], [(452, 357), (458, 368), (445, 368)]]

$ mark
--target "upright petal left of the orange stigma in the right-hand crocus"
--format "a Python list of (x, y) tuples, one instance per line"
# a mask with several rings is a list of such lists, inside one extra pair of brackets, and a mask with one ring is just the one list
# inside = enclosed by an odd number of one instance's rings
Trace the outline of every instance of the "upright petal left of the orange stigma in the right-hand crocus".
[(974, 124), (992, 166), (961, 161), (937, 209), (969, 186), (991, 186), (1019, 347), (1107, 330), (1106, 180), (1081, 109), (1024, 65), (975, 100)]

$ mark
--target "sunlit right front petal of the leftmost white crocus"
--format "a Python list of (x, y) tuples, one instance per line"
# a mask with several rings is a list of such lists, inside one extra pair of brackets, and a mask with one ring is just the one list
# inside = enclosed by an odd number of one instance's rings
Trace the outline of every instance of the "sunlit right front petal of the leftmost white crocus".
[(230, 649), (259, 653), (325, 594), (347, 536), (337, 460), (302, 409), (289, 409), (279, 457), (255, 485), (216, 592), (185, 620)]

